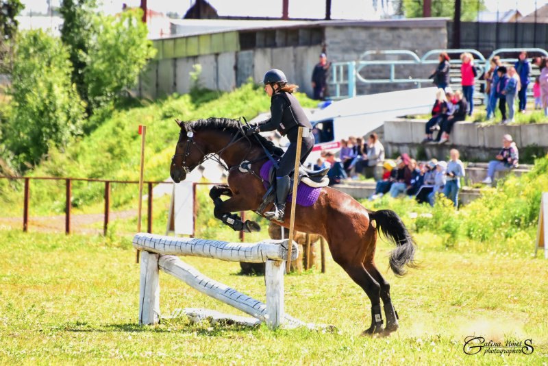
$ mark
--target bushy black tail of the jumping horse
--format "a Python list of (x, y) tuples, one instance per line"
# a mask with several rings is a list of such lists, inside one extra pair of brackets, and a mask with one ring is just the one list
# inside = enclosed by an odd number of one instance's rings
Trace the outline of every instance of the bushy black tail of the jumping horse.
[(393, 210), (369, 211), (369, 217), (376, 221), (377, 232), (382, 232), (396, 245), (396, 249), (390, 253), (390, 268), (395, 275), (405, 276), (405, 265), (410, 268), (418, 267), (414, 262), (415, 242), (397, 213)]

